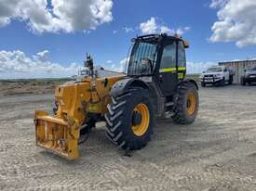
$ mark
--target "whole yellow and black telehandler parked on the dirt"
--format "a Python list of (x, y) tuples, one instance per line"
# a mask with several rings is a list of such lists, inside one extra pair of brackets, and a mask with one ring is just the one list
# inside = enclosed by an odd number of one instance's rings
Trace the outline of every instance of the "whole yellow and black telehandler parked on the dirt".
[(174, 122), (189, 124), (198, 111), (198, 86), (185, 79), (185, 48), (181, 37), (167, 34), (132, 39), (126, 74), (90, 76), (56, 88), (54, 117), (35, 111), (36, 145), (66, 159), (79, 157), (81, 134), (106, 121), (106, 135), (116, 146), (135, 150), (150, 140), (155, 118), (168, 113)]

